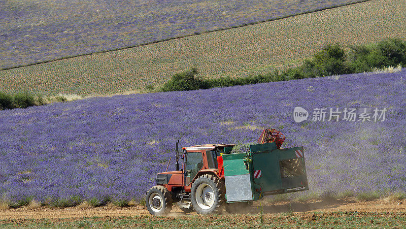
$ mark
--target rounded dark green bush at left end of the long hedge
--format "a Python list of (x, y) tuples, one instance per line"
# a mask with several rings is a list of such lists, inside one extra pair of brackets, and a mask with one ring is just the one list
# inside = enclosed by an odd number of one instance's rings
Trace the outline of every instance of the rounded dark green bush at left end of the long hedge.
[(162, 85), (160, 91), (185, 91), (207, 88), (206, 82), (196, 78), (195, 75), (197, 75), (195, 68), (175, 74), (170, 81)]

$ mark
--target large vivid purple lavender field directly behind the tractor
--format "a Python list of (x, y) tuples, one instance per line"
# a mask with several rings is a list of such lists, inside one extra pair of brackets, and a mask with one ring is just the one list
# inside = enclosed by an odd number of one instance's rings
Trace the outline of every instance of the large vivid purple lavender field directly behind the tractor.
[[(406, 190), (406, 69), (197, 91), (94, 97), (0, 111), (3, 201), (140, 200), (181, 147), (303, 145), (310, 191)], [(385, 121), (293, 120), (293, 109), (386, 108)]]

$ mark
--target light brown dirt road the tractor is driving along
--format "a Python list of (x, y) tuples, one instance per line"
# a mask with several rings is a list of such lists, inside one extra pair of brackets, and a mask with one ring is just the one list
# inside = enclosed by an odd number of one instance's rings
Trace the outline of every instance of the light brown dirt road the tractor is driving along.
[[(256, 203), (253, 208), (239, 212), (242, 214), (257, 214), (259, 205)], [(399, 213), (406, 212), (406, 203), (402, 202), (354, 202), (342, 201), (328, 203), (325, 201), (313, 203), (278, 203), (263, 204), (265, 214), (275, 214), (282, 212), (378, 212), (378, 213)], [(186, 215), (195, 215), (196, 213), (187, 213)], [(224, 214), (228, 214), (224, 212)], [(18, 209), (8, 209), (0, 211), (0, 219), (56, 219), (56, 218), (80, 218), (80, 217), (119, 217), (119, 216), (136, 216), (149, 215), (144, 206), (132, 207), (113, 207), (103, 206), (97, 208), (73, 207), (64, 209), (52, 209), (49, 207), (40, 207), (37, 209), (28, 209), (27, 207)], [(185, 216), (178, 207), (174, 207), (170, 216)]]

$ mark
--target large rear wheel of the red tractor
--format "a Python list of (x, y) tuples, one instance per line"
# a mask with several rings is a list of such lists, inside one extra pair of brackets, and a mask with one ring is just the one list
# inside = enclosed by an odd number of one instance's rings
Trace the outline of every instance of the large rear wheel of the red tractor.
[(205, 174), (198, 177), (190, 193), (194, 210), (199, 214), (220, 212), (220, 207), (225, 203), (224, 192), (224, 184), (216, 176)]

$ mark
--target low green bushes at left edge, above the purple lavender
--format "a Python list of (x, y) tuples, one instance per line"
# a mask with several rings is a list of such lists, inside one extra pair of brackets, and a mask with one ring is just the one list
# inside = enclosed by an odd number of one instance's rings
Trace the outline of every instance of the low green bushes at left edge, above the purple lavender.
[(27, 108), (44, 104), (45, 102), (41, 96), (35, 96), (28, 92), (21, 92), (16, 94), (7, 94), (0, 92), (0, 110)]

